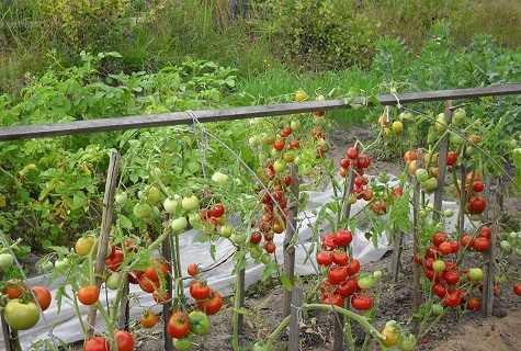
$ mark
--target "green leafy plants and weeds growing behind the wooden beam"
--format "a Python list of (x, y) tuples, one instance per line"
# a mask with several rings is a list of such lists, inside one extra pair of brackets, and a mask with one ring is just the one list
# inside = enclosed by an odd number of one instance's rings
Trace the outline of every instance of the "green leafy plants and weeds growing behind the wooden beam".
[[(0, 124), (288, 101), (299, 88), (344, 95), (521, 81), (517, 2), (251, 0), (233, 20), (225, 0), (4, 1)], [(520, 105), (508, 98), (476, 115), (501, 121), (499, 138), (519, 131)], [(229, 131), (238, 143), (243, 124)], [(125, 152), (127, 138), (3, 144), (1, 228), (45, 251), (97, 227), (106, 154)]]

